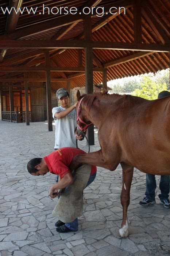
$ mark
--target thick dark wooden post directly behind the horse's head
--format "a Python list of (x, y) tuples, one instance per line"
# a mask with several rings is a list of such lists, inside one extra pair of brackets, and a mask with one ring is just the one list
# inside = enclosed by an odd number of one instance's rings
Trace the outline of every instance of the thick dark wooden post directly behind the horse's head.
[[(91, 17), (84, 19), (84, 39), (92, 40)], [(93, 48), (85, 47), (85, 89), (86, 93), (93, 93)], [(90, 125), (87, 132), (89, 145), (94, 145), (94, 125)]]

